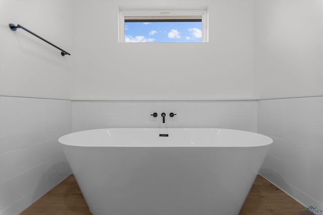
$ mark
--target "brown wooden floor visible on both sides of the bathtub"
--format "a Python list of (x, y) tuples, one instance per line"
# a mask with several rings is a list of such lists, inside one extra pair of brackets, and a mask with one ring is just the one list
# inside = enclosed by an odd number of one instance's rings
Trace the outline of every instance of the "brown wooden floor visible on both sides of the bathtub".
[[(303, 205), (258, 175), (239, 215), (299, 215), (299, 210), (303, 208)], [(21, 214), (91, 215), (92, 213), (74, 175), (70, 175)]]

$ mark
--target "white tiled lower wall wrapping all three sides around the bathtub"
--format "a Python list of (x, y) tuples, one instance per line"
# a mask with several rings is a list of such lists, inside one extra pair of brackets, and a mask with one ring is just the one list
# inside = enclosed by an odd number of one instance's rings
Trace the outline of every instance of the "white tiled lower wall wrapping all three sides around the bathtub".
[[(150, 116), (154, 112), (156, 118)], [(171, 118), (170, 112), (178, 115)], [(323, 97), (72, 102), (0, 97), (0, 214), (18, 214), (71, 173), (59, 136), (104, 127), (163, 126), (271, 136), (274, 144), (260, 173), (303, 204), (323, 208)]]

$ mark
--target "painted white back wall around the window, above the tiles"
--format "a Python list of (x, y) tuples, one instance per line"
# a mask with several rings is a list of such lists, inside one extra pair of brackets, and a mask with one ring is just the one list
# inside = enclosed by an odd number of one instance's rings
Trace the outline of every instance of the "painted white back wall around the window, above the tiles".
[[(205, 9), (209, 43), (118, 43), (122, 9)], [(72, 100), (253, 96), (253, 1), (75, 1)]]

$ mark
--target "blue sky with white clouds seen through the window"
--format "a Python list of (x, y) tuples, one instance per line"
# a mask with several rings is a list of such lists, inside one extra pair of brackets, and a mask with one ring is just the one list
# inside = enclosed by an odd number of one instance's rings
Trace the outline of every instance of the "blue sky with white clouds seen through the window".
[(201, 22), (126, 22), (125, 42), (202, 42)]

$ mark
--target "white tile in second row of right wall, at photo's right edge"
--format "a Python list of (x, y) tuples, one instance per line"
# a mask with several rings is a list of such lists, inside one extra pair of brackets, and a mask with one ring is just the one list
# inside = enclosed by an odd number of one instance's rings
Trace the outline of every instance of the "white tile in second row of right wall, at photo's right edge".
[(323, 150), (323, 123), (287, 120), (287, 140)]

